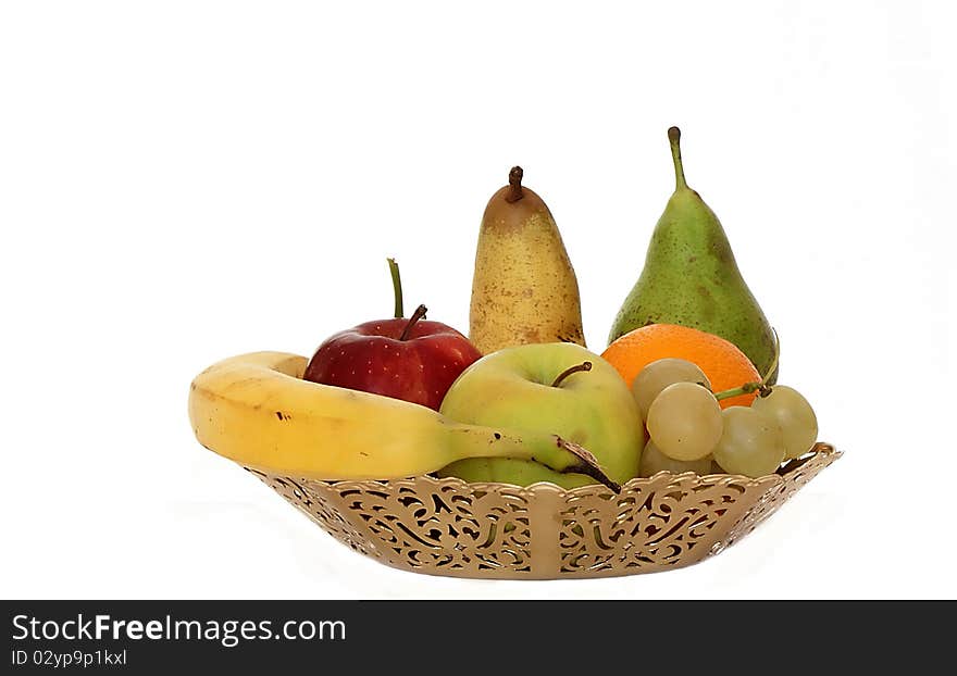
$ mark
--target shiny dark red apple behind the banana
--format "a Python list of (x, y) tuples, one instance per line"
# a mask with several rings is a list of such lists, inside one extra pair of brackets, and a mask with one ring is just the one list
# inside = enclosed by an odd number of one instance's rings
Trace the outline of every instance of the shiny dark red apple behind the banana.
[(319, 346), (303, 378), (403, 399), (438, 411), (451, 384), (482, 354), (462, 334), (426, 322), (425, 305), (401, 317), (401, 287), (393, 266), (398, 318), (365, 322)]

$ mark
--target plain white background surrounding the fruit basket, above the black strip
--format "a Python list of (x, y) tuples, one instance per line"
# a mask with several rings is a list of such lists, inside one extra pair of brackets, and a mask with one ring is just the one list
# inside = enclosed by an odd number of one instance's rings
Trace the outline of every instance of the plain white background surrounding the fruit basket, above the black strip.
[[(0, 596), (957, 596), (953, 10), (476, 4), (3, 3)], [(672, 124), (781, 381), (846, 451), (738, 544), (618, 579), (412, 575), (192, 438), (195, 374), (388, 316), (387, 255), (409, 305), (465, 330), (513, 164), (600, 351)]]

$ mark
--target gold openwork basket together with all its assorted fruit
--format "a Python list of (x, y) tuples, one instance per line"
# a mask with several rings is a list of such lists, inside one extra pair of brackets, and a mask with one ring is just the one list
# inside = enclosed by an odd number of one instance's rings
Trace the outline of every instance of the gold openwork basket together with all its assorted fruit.
[[(468, 338), (424, 322), (425, 305), (405, 318), (389, 259), (394, 317), (334, 334), (311, 360), (252, 352), (200, 373), (197, 440), (403, 571), (606, 577), (720, 552), (841, 453), (811, 448), (813, 410), (776, 384), (776, 334), (685, 180), (679, 129), (668, 138), (675, 190), (601, 354), (585, 347), (555, 220), (515, 166), (483, 215)], [(772, 474), (660, 472), (619, 486), (639, 459), (705, 470), (709, 456)], [(599, 483), (550, 483), (587, 477)]]

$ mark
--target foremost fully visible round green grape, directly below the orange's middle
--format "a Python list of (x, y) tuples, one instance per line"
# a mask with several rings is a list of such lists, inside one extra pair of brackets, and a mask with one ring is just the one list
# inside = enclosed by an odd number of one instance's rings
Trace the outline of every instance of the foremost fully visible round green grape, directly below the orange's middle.
[(721, 438), (721, 406), (694, 383), (669, 385), (648, 409), (651, 441), (671, 460), (700, 460)]

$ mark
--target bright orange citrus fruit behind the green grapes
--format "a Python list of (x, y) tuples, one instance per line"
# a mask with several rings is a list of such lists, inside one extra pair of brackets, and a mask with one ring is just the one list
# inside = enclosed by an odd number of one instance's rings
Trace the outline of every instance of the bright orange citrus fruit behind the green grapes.
[[(675, 324), (649, 324), (621, 336), (601, 353), (618, 370), (629, 387), (651, 362), (674, 356), (698, 365), (714, 392), (761, 379), (758, 370), (737, 347), (712, 334)], [(749, 406), (755, 395), (724, 399), (722, 409)]]

